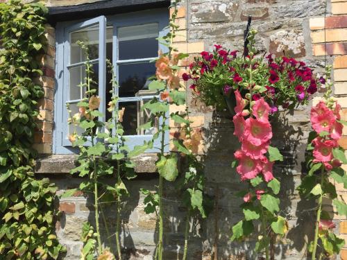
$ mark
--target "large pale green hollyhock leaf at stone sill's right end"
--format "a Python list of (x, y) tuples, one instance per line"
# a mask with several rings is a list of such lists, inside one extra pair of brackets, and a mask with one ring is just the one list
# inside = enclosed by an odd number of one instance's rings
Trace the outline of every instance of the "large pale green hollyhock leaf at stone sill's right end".
[(158, 173), (164, 177), (165, 180), (173, 182), (178, 176), (177, 162), (177, 155), (171, 153), (167, 156), (161, 155), (155, 165), (158, 168)]

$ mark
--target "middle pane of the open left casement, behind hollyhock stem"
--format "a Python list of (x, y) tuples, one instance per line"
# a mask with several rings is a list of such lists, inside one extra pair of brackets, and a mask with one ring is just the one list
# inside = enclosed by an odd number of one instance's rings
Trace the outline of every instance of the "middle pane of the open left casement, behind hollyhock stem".
[[(85, 90), (87, 87), (81, 87), (81, 84), (85, 83), (85, 65), (81, 65), (78, 67), (72, 67), (69, 69), (70, 72), (70, 85), (69, 85), (69, 100), (73, 101), (76, 99), (85, 98)], [(99, 81), (99, 64), (92, 64), (92, 73), (90, 75), (92, 77), (92, 81), (90, 83), (90, 89), (98, 89), (98, 81)], [(97, 92), (96, 92), (97, 94)]]

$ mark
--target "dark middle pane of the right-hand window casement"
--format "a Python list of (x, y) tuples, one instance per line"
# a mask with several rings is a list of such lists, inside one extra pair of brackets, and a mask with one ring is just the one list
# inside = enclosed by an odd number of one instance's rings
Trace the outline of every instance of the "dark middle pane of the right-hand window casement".
[(119, 96), (137, 96), (138, 92), (148, 90), (148, 78), (154, 74), (153, 62), (119, 65)]

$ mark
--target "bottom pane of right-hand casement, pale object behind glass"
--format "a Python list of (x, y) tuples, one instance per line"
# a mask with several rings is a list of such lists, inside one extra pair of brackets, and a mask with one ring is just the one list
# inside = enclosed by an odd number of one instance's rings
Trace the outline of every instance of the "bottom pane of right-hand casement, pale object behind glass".
[(119, 102), (119, 110), (124, 110), (123, 120), (121, 125), (124, 128), (124, 135), (153, 135), (157, 132), (158, 123), (155, 121), (155, 126), (147, 130), (137, 130), (139, 125), (148, 123), (155, 117), (149, 110), (141, 110), (141, 107), (149, 100), (133, 101), (133, 102)]

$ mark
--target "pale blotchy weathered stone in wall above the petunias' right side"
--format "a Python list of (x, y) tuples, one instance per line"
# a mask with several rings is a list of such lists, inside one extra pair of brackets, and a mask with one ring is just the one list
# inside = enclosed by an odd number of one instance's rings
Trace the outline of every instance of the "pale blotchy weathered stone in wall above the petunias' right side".
[(269, 51), (276, 55), (300, 58), (306, 55), (303, 32), (298, 30), (278, 31), (270, 36)]

